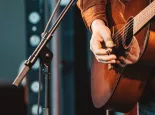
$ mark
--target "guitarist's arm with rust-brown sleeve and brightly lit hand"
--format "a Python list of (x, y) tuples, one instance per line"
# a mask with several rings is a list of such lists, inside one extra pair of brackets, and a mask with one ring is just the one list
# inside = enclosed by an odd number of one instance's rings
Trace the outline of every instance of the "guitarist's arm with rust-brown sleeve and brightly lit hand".
[[(94, 53), (96, 59), (103, 63), (115, 63), (116, 56), (108, 55), (112, 51), (114, 43), (111, 40), (111, 32), (106, 19), (106, 0), (78, 0), (77, 6), (81, 11), (82, 18), (92, 31), (92, 37), (90, 40), (90, 49)], [(106, 44), (108, 49), (103, 49), (101, 42)], [(109, 42), (110, 41), (110, 42)], [(110, 43), (110, 44), (109, 44)]]

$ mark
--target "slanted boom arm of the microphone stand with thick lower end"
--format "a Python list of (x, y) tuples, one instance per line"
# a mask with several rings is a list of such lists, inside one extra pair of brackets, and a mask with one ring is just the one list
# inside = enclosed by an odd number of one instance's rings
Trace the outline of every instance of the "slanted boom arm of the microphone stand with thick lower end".
[(49, 32), (45, 33), (42, 36), (41, 42), (36, 47), (36, 49), (34, 50), (34, 52), (32, 53), (32, 55), (25, 61), (25, 66), (21, 70), (21, 72), (18, 74), (18, 76), (16, 77), (16, 79), (14, 80), (13, 85), (19, 86), (19, 84), (21, 83), (21, 81), (24, 79), (24, 77), (26, 76), (26, 74), (29, 72), (30, 68), (36, 62), (37, 58), (39, 57), (39, 54), (40, 54), (41, 50), (43, 48), (45, 48), (45, 46), (47, 45), (47, 43), (51, 40), (51, 37), (52, 37), (53, 33), (55, 32), (55, 30), (58, 27), (58, 25), (60, 24), (62, 18), (67, 13), (67, 11), (69, 10), (69, 8), (72, 6), (72, 4), (74, 3), (74, 1), (75, 0), (71, 0), (67, 4), (67, 6), (63, 9), (63, 11), (59, 15), (58, 19), (54, 23), (53, 27), (49, 30)]

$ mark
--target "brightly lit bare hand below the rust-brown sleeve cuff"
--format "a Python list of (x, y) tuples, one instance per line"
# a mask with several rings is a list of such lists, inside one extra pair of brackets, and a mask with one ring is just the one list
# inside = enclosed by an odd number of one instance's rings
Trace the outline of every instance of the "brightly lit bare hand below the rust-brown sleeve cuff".
[[(109, 52), (112, 52), (112, 47), (114, 47), (110, 29), (99, 19), (93, 21), (91, 29), (92, 37), (90, 40), (90, 49), (94, 53), (98, 62), (116, 63), (116, 55), (109, 55)], [(102, 42), (105, 43), (107, 48), (103, 49)]]

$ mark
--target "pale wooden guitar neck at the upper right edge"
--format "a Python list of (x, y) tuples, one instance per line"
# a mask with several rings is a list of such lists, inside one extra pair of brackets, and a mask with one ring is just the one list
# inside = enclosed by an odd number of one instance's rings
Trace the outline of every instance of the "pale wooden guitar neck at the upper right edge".
[(155, 15), (155, 1), (134, 17), (133, 34), (135, 35)]

